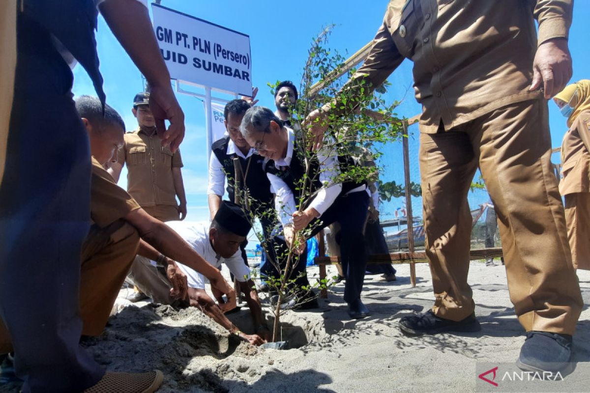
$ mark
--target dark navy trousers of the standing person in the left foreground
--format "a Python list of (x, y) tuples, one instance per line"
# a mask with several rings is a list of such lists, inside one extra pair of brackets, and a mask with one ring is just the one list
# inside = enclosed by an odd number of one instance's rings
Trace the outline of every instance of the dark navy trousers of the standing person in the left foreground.
[[(4, 180), (0, 316), (25, 392), (80, 392), (103, 369), (78, 344), (80, 250), (90, 227), (90, 153), (73, 75), (22, 14)], [(3, 341), (5, 338), (2, 338)]]

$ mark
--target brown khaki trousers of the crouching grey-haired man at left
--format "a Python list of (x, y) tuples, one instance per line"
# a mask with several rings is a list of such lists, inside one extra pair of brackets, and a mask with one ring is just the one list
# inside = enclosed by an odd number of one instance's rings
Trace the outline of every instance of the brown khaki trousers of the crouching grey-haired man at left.
[[(123, 220), (102, 229), (90, 228), (82, 246), (80, 268), (83, 335), (98, 336), (104, 331), (138, 247), (137, 230)], [(12, 349), (8, 331), (0, 320), (0, 354)]]

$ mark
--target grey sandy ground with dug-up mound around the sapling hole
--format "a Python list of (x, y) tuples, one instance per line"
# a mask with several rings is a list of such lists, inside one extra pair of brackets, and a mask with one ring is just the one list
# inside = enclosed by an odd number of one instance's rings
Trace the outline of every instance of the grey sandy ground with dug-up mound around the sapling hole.
[[(317, 277), (317, 267), (308, 271)], [(578, 275), (588, 304), (590, 272)], [(320, 300), (319, 311), (287, 312), (283, 338), (299, 346), (287, 351), (240, 342), (196, 309), (150, 304), (124, 308), (103, 336), (86, 345), (112, 371), (162, 370), (160, 392), (471, 392), (477, 362), (516, 360), (524, 336), (503, 266), (471, 263), (469, 282), (482, 330), (464, 335), (402, 335), (398, 319), (428, 309), (432, 293), (427, 264), (417, 265), (416, 288), (409, 283), (409, 266), (398, 267), (398, 277), (386, 283), (367, 276), (363, 300), (370, 318), (349, 319), (343, 284)], [(251, 332), (247, 308), (231, 318)], [(575, 336), (579, 362), (590, 361), (589, 320), (585, 308)]]

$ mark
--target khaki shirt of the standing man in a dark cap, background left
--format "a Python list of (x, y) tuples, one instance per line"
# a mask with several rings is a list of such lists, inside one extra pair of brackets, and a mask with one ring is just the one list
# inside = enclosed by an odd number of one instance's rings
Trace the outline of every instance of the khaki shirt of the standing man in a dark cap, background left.
[(155, 132), (148, 136), (137, 128), (125, 134), (117, 158), (120, 164), (127, 164), (127, 191), (142, 207), (178, 206), (172, 168), (182, 168), (180, 150), (172, 153), (169, 147), (162, 147)]

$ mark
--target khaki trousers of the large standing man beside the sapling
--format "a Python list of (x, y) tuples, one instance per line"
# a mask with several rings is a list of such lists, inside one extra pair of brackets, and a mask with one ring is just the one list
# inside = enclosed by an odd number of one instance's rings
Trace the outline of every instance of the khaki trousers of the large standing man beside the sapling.
[(441, 318), (474, 311), (467, 284), (467, 193), (480, 167), (494, 203), (510, 300), (526, 331), (573, 334), (582, 309), (544, 100), (510, 104), (462, 126), (420, 136), (420, 170), (435, 304)]

